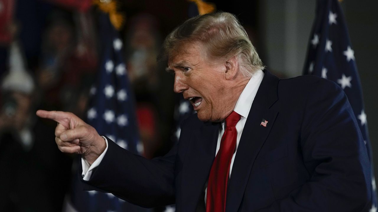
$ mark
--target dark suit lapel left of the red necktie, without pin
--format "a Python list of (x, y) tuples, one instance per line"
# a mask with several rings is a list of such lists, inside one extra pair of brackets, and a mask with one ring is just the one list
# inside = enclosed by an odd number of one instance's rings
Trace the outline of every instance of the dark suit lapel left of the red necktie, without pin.
[(204, 123), (189, 138), (181, 181), (182, 211), (195, 211), (204, 191), (215, 158), (219, 127), (219, 123)]

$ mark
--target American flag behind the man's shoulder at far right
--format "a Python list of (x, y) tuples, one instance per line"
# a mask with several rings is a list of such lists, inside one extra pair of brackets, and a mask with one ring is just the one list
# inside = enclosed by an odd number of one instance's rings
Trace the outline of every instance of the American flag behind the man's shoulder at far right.
[(347, 95), (361, 129), (372, 165), (372, 207), (376, 212), (376, 186), (372, 149), (367, 132), (361, 83), (348, 29), (338, 0), (318, 0), (310, 35), (304, 74), (317, 75), (339, 84)]

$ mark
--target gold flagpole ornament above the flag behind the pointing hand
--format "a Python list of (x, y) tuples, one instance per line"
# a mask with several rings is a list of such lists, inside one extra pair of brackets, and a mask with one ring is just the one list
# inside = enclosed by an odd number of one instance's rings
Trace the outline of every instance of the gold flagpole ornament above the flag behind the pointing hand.
[(116, 0), (93, 0), (93, 4), (97, 5), (103, 12), (109, 14), (110, 23), (120, 30), (125, 22), (125, 17), (121, 12), (117, 11), (118, 4)]

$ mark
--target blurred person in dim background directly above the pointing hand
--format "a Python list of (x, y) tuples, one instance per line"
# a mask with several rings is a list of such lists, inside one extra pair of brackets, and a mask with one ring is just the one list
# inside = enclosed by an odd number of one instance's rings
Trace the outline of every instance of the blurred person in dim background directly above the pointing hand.
[(91, 26), (88, 19), (62, 10), (50, 13), (37, 71), (42, 107), (84, 112), (97, 65), (95, 33), (83, 32)]

